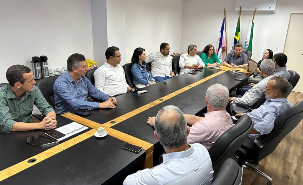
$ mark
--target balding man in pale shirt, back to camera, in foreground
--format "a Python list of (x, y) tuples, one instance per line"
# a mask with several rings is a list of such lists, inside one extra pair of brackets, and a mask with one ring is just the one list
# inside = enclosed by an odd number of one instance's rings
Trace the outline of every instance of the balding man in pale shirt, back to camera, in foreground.
[(163, 107), (155, 118), (154, 131), (166, 153), (163, 163), (128, 175), (123, 184), (211, 184), (214, 171), (209, 153), (201, 144), (187, 143), (189, 130), (178, 107)]

